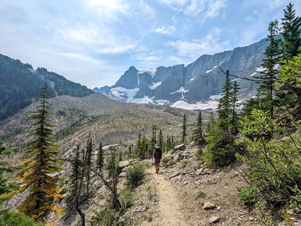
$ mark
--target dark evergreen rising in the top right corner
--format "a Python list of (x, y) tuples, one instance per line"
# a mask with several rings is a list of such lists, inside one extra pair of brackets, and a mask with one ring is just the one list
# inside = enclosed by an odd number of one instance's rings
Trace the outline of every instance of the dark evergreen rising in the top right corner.
[(301, 46), (301, 18), (296, 17), (296, 10), (293, 10), (293, 4), (290, 3), (284, 9), (284, 17), (281, 18), (283, 21), (283, 43), (282, 43), (282, 52), (283, 59), (292, 59), (293, 56), (296, 56), (300, 53), (299, 47)]

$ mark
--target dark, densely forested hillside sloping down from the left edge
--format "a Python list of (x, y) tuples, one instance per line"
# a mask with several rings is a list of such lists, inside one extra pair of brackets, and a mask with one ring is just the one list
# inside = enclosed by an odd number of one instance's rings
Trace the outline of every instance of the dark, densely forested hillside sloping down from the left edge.
[(39, 96), (38, 87), (45, 81), (50, 84), (53, 96), (83, 97), (94, 93), (46, 68), (38, 67), (35, 71), (31, 64), (0, 54), (0, 121), (31, 104), (32, 99)]

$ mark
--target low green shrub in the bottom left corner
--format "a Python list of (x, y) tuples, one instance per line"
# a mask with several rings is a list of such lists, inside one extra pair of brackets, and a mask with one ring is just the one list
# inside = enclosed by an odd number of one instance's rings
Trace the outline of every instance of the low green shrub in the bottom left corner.
[(45, 224), (36, 224), (33, 218), (27, 217), (24, 213), (12, 212), (8, 209), (0, 210), (1, 226), (44, 226)]

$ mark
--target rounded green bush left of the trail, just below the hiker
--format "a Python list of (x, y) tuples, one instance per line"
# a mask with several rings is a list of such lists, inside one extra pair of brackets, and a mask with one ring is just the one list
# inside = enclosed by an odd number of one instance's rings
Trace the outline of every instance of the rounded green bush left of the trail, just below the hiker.
[(130, 188), (138, 187), (145, 176), (145, 168), (143, 162), (129, 166), (125, 172), (125, 184)]

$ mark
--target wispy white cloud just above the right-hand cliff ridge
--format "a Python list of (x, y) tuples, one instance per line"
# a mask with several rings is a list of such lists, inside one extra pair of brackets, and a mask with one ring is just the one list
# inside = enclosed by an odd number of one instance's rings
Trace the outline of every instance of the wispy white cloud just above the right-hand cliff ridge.
[(165, 45), (177, 49), (180, 57), (196, 59), (201, 55), (214, 54), (229, 48), (229, 41), (220, 41), (220, 34), (221, 30), (214, 28), (202, 39), (170, 41)]

